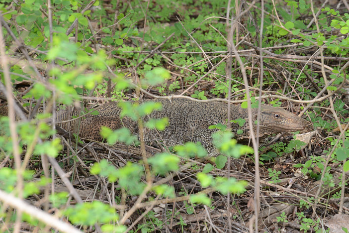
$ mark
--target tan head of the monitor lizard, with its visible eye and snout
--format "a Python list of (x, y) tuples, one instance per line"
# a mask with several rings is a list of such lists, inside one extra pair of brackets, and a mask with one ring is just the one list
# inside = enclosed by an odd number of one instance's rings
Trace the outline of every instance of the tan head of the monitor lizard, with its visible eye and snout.
[(284, 109), (262, 106), (260, 127), (272, 133), (301, 131), (307, 125), (304, 119)]

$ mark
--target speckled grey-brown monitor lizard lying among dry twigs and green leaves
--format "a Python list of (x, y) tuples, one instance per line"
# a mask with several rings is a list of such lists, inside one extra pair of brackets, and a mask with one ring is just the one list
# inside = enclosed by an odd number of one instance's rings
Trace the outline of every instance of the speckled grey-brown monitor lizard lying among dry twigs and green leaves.
[[(160, 102), (163, 106), (162, 111), (154, 111), (149, 117), (167, 117), (169, 119), (169, 125), (164, 131), (145, 128), (143, 133), (144, 140), (147, 143), (162, 141), (167, 146), (173, 146), (187, 141), (200, 141), (208, 151), (214, 150), (211, 134), (217, 130), (208, 129), (208, 127), (217, 123), (227, 123), (227, 104), (221, 102), (202, 103), (181, 98), (172, 100), (152, 99), (141, 101), (140, 103), (148, 101)], [(99, 112), (99, 115), (89, 115), (81, 118), (79, 127), (79, 135), (81, 137), (101, 141), (102, 137), (99, 131), (102, 125), (108, 126), (111, 129), (125, 126), (130, 129), (131, 133), (139, 136), (136, 121), (133, 121), (127, 116), (120, 119), (122, 110), (117, 102), (101, 105), (96, 110)], [(252, 109), (254, 122), (257, 119), (257, 113), (258, 109)], [(0, 115), (7, 115), (7, 110), (5, 108), (0, 109)], [(77, 116), (78, 112), (68, 114), (67, 111), (59, 111), (57, 112), (56, 120), (68, 120), (72, 115)], [(149, 117), (144, 117), (144, 120), (147, 121)], [(239, 118), (245, 119), (245, 124), (240, 127), (237, 123), (231, 123), (231, 130), (234, 132), (236, 139), (248, 139), (250, 138), (250, 128), (248, 125), (247, 109), (231, 105), (230, 119), (236, 120)], [(61, 123), (59, 125), (68, 132), (74, 132), (73, 129), (77, 128), (74, 120), (70, 124)], [(304, 130), (307, 126), (308, 123), (305, 120), (284, 109), (262, 105), (259, 135), (256, 135), (257, 125), (254, 125), (254, 131), (256, 137), (262, 138), (273, 133)], [(242, 134), (237, 134), (238, 129), (242, 129)]]

